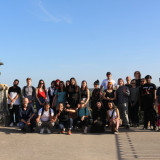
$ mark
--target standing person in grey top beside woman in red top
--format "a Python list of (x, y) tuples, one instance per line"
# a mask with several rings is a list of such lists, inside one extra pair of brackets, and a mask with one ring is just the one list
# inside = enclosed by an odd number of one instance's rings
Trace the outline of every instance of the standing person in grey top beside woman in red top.
[(32, 82), (31, 78), (27, 78), (26, 82), (27, 82), (27, 85), (24, 86), (22, 90), (23, 98), (28, 98), (29, 104), (34, 107), (36, 91), (35, 91), (35, 88), (31, 86), (31, 82)]

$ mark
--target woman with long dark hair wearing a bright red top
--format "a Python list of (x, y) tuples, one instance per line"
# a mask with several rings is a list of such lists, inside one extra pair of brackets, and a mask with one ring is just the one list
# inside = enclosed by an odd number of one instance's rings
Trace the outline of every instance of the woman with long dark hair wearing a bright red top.
[(44, 106), (44, 104), (47, 100), (46, 93), (47, 93), (47, 90), (45, 87), (45, 83), (41, 79), (41, 80), (39, 80), (38, 87), (36, 88), (36, 99), (37, 99), (36, 109), (37, 109), (37, 112), (39, 111), (40, 108), (42, 108)]

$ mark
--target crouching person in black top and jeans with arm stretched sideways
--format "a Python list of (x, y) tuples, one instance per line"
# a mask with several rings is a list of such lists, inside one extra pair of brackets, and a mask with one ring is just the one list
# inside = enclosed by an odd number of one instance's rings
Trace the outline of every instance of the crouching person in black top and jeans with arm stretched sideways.
[(59, 119), (59, 128), (60, 133), (64, 134), (65, 129), (68, 130), (68, 135), (71, 135), (71, 129), (73, 125), (72, 118), (69, 118), (70, 109), (65, 109), (63, 103), (59, 103), (58, 105), (58, 114), (56, 115), (56, 119)]

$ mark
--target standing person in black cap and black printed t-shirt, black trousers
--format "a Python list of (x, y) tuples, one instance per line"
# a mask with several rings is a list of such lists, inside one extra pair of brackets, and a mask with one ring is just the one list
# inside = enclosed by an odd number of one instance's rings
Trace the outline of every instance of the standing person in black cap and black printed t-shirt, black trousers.
[(147, 129), (148, 122), (150, 121), (153, 130), (156, 130), (156, 85), (151, 83), (152, 77), (150, 75), (147, 75), (145, 79), (147, 83), (142, 87), (144, 95), (144, 129)]

